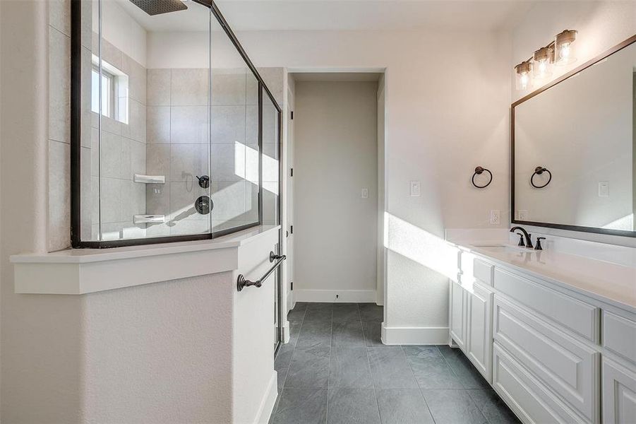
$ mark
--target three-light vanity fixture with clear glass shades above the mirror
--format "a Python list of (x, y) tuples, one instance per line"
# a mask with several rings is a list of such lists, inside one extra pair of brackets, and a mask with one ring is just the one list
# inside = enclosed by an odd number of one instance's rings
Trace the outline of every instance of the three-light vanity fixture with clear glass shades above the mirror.
[(572, 44), (577, 30), (565, 30), (554, 37), (546, 47), (536, 50), (531, 58), (515, 66), (517, 90), (527, 90), (532, 85), (552, 75), (552, 65), (571, 64), (576, 60)]

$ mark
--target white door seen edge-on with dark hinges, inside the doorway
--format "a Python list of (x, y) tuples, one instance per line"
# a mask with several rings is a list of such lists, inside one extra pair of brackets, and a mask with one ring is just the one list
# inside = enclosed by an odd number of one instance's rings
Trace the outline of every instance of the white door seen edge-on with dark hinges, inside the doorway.
[(294, 95), (287, 89), (287, 228), (284, 236), (287, 242), (287, 310), (292, 309), (294, 293)]

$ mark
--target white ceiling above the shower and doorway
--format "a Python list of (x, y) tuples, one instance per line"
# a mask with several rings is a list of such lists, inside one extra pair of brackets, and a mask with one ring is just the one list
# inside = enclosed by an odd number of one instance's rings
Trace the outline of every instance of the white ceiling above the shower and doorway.
[[(148, 16), (117, 1), (148, 31), (208, 30), (205, 6)], [(499, 30), (510, 28), (536, 1), (528, 0), (220, 0), (235, 31), (246, 30)], [(215, 24), (216, 25), (216, 24)]]

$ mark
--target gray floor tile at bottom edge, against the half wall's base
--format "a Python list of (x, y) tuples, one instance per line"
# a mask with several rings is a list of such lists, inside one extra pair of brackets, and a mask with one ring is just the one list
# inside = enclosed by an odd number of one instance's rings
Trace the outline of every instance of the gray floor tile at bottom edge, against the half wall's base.
[(325, 424), (327, 389), (284, 389), (274, 415), (275, 424)]

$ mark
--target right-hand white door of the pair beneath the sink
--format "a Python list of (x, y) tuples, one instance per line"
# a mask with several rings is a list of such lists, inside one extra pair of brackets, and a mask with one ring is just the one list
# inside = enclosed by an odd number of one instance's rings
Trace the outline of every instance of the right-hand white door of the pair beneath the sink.
[(481, 375), (492, 382), (493, 292), (479, 284), (469, 294), (466, 355)]

